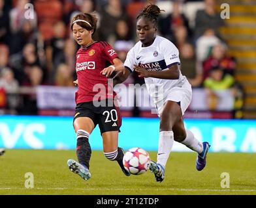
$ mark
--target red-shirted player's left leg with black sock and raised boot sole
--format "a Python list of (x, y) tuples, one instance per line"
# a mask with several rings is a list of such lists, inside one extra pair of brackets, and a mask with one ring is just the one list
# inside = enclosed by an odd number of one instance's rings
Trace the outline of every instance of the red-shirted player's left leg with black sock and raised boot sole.
[(76, 155), (78, 162), (69, 159), (68, 166), (72, 172), (88, 180), (91, 177), (89, 172), (89, 160), (91, 158), (89, 135), (93, 131), (95, 124), (88, 117), (75, 118), (73, 124), (76, 132)]

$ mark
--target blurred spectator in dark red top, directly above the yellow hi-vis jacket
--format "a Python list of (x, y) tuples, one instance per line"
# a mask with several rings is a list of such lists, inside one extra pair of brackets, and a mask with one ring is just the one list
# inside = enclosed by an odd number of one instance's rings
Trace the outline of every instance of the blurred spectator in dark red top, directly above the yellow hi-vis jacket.
[(213, 47), (212, 53), (208, 59), (203, 62), (203, 75), (204, 79), (208, 77), (209, 71), (214, 66), (223, 68), (224, 73), (234, 75), (236, 70), (236, 60), (234, 57), (227, 55), (227, 47), (224, 44), (217, 44)]

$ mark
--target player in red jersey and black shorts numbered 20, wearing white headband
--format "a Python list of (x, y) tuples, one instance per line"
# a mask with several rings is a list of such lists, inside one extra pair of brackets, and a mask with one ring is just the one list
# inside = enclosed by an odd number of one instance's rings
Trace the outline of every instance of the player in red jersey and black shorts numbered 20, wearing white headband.
[(81, 46), (76, 53), (78, 79), (74, 81), (78, 85), (73, 122), (78, 162), (69, 159), (67, 164), (72, 172), (85, 180), (91, 177), (89, 135), (97, 124), (103, 138), (104, 155), (110, 161), (118, 161), (123, 173), (130, 175), (123, 167), (123, 149), (118, 147), (121, 116), (120, 110), (114, 105), (116, 94), (108, 86), (108, 75), (101, 74), (103, 69), (114, 71), (116, 67), (122, 67), (123, 63), (107, 42), (93, 40), (96, 27), (97, 19), (87, 13), (76, 15), (71, 23), (74, 40)]

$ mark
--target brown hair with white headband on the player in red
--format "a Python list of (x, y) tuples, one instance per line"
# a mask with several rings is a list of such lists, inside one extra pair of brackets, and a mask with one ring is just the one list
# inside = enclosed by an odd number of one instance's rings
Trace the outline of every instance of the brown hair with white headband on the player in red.
[(96, 31), (97, 21), (98, 21), (98, 19), (92, 14), (89, 14), (89, 13), (77, 14), (72, 19), (71, 30), (73, 31), (73, 25), (74, 25), (74, 23), (76, 23), (88, 31), (93, 30), (93, 33), (94, 33)]

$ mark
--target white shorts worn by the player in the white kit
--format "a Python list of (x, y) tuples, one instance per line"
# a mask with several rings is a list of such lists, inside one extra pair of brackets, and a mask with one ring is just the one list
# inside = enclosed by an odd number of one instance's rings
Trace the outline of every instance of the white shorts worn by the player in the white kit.
[(165, 99), (163, 101), (159, 101), (155, 103), (157, 108), (157, 114), (160, 117), (163, 112), (163, 108), (165, 107), (165, 103), (170, 100), (174, 102), (180, 102), (180, 108), (182, 109), (182, 116), (189, 107), (189, 104), (192, 99), (192, 88), (188, 81), (186, 81), (182, 86), (174, 86), (168, 92), (165, 92)]

